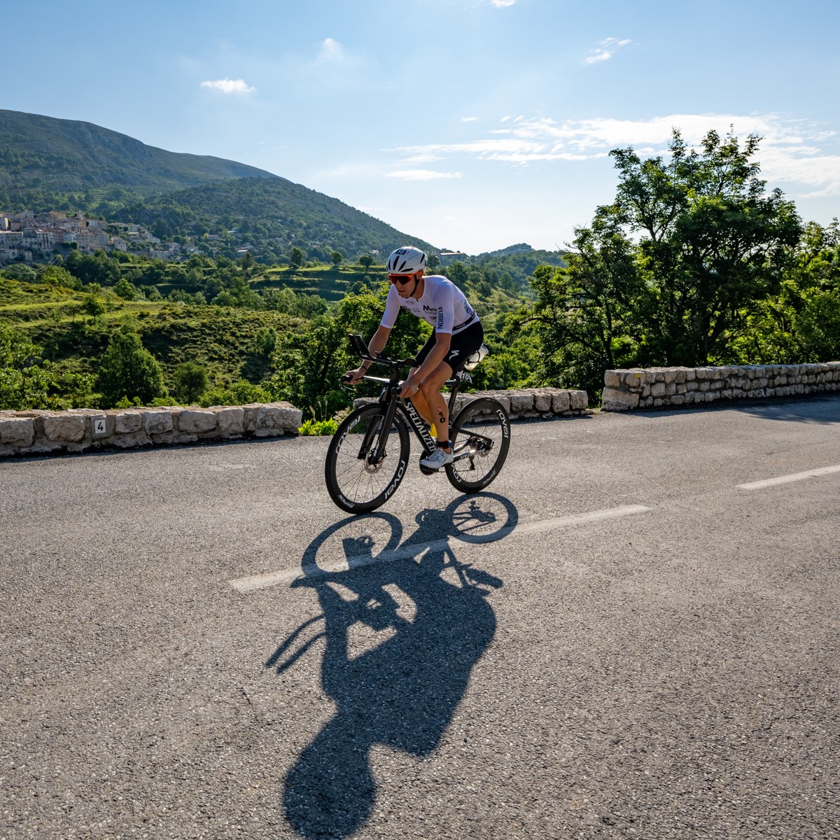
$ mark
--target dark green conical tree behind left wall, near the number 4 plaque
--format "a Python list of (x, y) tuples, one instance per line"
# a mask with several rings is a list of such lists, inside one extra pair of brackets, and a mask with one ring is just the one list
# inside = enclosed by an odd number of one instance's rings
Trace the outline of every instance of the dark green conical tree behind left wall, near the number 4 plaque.
[(97, 388), (102, 392), (105, 408), (115, 406), (124, 397), (129, 400), (137, 397), (142, 405), (148, 405), (166, 395), (160, 365), (127, 324), (113, 334), (102, 354)]

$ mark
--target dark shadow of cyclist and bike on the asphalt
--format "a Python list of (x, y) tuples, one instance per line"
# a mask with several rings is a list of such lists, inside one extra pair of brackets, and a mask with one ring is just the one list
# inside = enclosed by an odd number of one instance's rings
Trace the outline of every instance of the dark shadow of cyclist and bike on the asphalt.
[(371, 748), (432, 753), (496, 633), (487, 596), (502, 581), (459, 561), (454, 544), (504, 538), (516, 507), (480, 493), (416, 521), (405, 539), (391, 514), (336, 523), (307, 547), (292, 584), (313, 590), (323, 614), (265, 666), (281, 674), (323, 643), (323, 690), (337, 706), (286, 775), (286, 819), (302, 837), (348, 837), (367, 822)]

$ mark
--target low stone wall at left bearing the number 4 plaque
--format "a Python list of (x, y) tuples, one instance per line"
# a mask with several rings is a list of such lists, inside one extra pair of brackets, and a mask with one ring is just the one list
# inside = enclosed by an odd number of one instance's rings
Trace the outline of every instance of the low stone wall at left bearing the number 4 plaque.
[(297, 434), (302, 412), (288, 402), (213, 408), (121, 408), (0, 412), (0, 457), (87, 449), (195, 444)]

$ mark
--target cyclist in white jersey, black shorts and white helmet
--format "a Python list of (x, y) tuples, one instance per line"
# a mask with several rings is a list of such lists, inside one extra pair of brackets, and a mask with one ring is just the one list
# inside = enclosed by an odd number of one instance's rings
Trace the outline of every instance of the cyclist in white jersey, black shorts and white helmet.
[[(368, 349), (373, 356), (385, 349), (400, 307), (432, 325), (432, 334), (417, 354), (417, 367), (412, 368), (402, 383), (400, 396), (410, 399), (423, 420), (434, 425), (438, 447), (420, 463), (439, 470), (452, 463), (449, 407), (441, 389), (480, 348), (484, 328), (464, 292), (442, 275), (426, 276), (426, 263), (423, 251), (412, 245), (397, 248), (388, 257), (386, 268), (391, 288), (385, 314)], [(370, 362), (362, 362), (355, 370), (348, 370), (350, 384), (360, 381), (368, 367)]]

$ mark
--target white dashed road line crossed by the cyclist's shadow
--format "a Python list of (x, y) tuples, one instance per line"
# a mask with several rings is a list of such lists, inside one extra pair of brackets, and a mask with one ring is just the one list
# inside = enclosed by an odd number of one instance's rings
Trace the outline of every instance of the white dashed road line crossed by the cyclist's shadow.
[[(512, 534), (523, 536), (530, 533), (541, 533), (543, 531), (551, 531), (554, 528), (571, 528), (575, 525), (585, 525), (588, 522), (599, 522), (602, 519), (615, 519), (617, 517), (633, 516), (635, 513), (646, 513), (650, 510), (649, 507), (642, 505), (622, 505), (622, 507), (609, 507), (602, 511), (591, 511), (588, 513), (578, 513), (569, 517), (554, 517), (552, 519), (542, 519), (538, 522), (527, 522), (517, 524), (511, 528), (500, 528), (498, 531), (488, 536), (485, 542), (495, 542), (498, 539), (503, 539)], [(360, 566), (370, 566), (375, 563), (389, 563), (393, 560), (408, 559), (417, 557), (427, 551), (444, 551), (451, 546), (450, 541), (454, 543), (476, 544), (475, 540), (459, 540), (453, 537), (445, 537), (443, 539), (436, 539), (433, 542), (417, 542), (405, 543), (397, 549), (390, 551), (382, 551), (380, 554), (372, 556), (370, 554), (361, 554), (354, 557), (342, 557), (333, 559), (324, 559), (318, 565), (306, 565), (302, 568), (296, 566), (293, 569), (281, 569), (276, 572), (265, 572), (263, 575), (251, 575), (244, 578), (235, 578), (228, 580), (228, 583), (240, 592), (254, 592), (259, 589), (267, 589), (269, 586), (276, 586), (281, 583), (289, 583), (301, 575), (306, 577), (313, 577), (317, 575), (329, 574), (330, 572), (340, 572), (346, 570), (348, 567), (358, 569)]]

